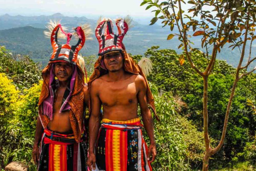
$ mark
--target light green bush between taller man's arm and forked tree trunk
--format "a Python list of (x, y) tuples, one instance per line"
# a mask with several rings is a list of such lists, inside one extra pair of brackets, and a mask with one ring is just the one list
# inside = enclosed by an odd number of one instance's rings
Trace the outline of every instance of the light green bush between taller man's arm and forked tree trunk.
[[(158, 95), (157, 87), (150, 84), (159, 119), (154, 120), (157, 157), (154, 170), (188, 170), (188, 164), (198, 166), (204, 154), (203, 133), (177, 113), (180, 107), (171, 93)], [(146, 132), (144, 133), (144, 135)], [(145, 136), (149, 143), (148, 137)]]

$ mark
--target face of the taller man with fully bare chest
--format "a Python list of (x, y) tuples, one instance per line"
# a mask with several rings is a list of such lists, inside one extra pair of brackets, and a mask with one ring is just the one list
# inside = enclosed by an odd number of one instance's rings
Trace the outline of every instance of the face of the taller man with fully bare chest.
[(123, 56), (121, 52), (108, 53), (103, 56), (104, 64), (108, 71), (116, 72), (123, 67)]

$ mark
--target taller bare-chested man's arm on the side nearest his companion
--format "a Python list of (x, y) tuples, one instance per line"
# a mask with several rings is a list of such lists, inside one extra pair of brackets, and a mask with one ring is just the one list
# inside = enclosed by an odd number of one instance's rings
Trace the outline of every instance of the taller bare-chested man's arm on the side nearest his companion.
[(100, 127), (99, 113), (101, 101), (98, 94), (97, 80), (92, 82), (91, 90), (89, 93), (91, 100), (91, 115), (89, 119), (89, 158), (87, 160), (87, 166), (90, 168), (90, 170), (92, 170), (92, 167), (95, 169), (96, 157), (94, 154), (94, 147)]

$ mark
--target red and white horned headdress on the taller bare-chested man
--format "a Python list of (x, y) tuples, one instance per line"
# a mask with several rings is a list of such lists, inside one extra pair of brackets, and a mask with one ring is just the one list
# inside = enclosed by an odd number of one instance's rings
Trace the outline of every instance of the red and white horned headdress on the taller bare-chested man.
[(116, 19), (117, 34), (113, 32), (113, 24), (111, 19), (103, 19), (95, 30), (95, 36), (99, 41), (98, 55), (104, 55), (111, 51), (125, 50), (123, 39), (129, 29), (131, 18), (128, 16), (125, 19)]

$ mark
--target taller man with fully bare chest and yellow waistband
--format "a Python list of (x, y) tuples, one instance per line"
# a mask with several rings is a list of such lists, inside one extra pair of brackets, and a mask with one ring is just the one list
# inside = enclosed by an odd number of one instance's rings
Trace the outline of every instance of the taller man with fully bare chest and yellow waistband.
[[(116, 20), (116, 35), (110, 19), (103, 19), (96, 28), (100, 57), (88, 83), (91, 115), (87, 166), (90, 169), (149, 171), (150, 163), (156, 158), (154, 127), (148, 108), (150, 105), (155, 112), (154, 100), (145, 75), (122, 43), (128, 31), (126, 21)], [(138, 104), (150, 139), (149, 148), (142, 136)], [(101, 105), (103, 119), (99, 130)]]

